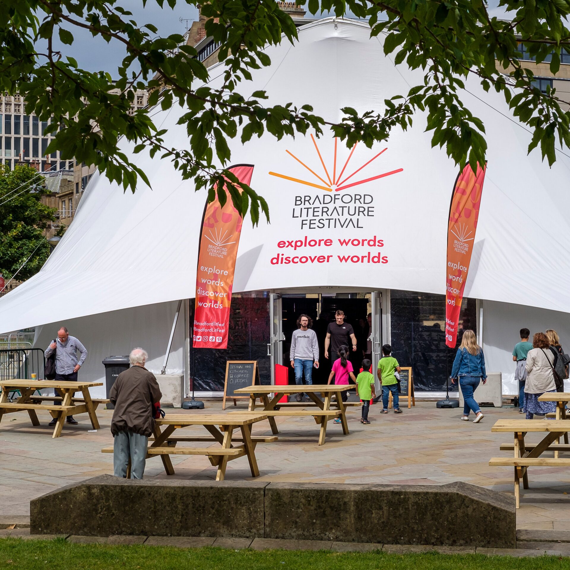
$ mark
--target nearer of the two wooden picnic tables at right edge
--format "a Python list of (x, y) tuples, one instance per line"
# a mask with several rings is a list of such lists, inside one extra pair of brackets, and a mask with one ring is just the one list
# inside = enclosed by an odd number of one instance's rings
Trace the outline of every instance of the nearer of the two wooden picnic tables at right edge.
[[(514, 457), (492, 457), (491, 466), (512, 466), (515, 470), (515, 503), (520, 506), (520, 479), (528, 489), (528, 467), (570, 467), (570, 458), (540, 457), (545, 451), (570, 451), (570, 445), (555, 443), (570, 431), (570, 420), (498, 420), (491, 431), (506, 431), (514, 434), (513, 445), (501, 445), (502, 451), (514, 451)], [(542, 432), (544, 438), (536, 445), (527, 445), (527, 433)]]

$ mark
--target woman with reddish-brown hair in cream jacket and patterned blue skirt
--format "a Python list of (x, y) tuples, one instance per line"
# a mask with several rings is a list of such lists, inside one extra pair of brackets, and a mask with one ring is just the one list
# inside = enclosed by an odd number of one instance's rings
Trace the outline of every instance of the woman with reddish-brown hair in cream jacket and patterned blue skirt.
[(556, 411), (556, 402), (540, 402), (539, 397), (545, 392), (556, 392), (554, 381), (554, 354), (550, 351), (550, 343), (543, 332), (532, 337), (532, 348), (527, 354), (527, 381), (524, 386), (524, 412), (527, 420), (534, 414), (544, 416)]

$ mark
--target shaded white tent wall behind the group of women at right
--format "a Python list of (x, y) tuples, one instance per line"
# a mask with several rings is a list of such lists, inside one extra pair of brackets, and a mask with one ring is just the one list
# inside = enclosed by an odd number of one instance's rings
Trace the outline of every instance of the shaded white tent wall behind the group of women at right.
[[(547, 311), (538, 307), (526, 307), (512, 303), (482, 301), (483, 304), (483, 352), (488, 372), (502, 372), (503, 394), (518, 394), (515, 381), (515, 363), (512, 349), (520, 341), (519, 331), (523, 327), (535, 332), (554, 329), (560, 336), (565, 352), (570, 349), (570, 318), (567, 313)], [(564, 382), (570, 390), (570, 382)]]

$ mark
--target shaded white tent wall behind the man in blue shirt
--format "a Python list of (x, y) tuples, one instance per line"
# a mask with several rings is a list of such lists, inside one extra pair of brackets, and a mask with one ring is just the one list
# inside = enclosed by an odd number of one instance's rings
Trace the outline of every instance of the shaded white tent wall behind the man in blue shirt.
[[(93, 397), (104, 398), (105, 367), (101, 361), (107, 356), (128, 355), (133, 348), (144, 348), (149, 357), (146, 368), (160, 374), (177, 306), (178, 302), (157, 303), (46, 324), (36, 328), (34, 346), (46, 349), (57, 336), (58, 328), (67, 327), (70, 335), (77, 337), (87, 348), (87, 360), (79, 371), (80, 379), (103, 382), (103, 386), (95, 386), (90, 391)], [(185, 321), (182, 303), (166, 365), (167, 374), (184, 373)]]

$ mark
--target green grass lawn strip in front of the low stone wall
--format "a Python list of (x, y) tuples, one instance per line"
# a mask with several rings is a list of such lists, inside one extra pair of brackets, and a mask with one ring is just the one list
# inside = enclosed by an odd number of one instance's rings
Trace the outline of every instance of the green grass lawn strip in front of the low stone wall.
[[(555, 548), (555, 545), (553, 545)], [(0, 539), (2, 570), (257, 570), (266, 568), (306, 568), (307, 570), (517, 570), (568, 568), (570, 558), (541, 556), (513, 558), (484, 555), (444, 555), (255, 551), (222, 548), (174, 548), (158, 546), (118, 546), (74, 544), (64, 539)]]

